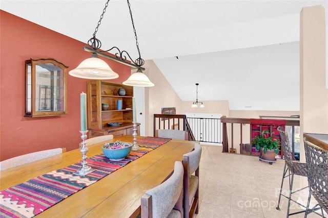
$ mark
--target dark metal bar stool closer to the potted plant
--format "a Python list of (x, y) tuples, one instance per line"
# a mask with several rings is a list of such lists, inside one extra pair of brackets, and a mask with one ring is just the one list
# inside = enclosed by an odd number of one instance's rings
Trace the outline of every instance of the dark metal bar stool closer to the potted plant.
[[(298, 204), (298, 205), (301, 205), (300, 203), (298, 203), (297, 201), (292, 199), (292, 194), (309, 187), (309, 186), (306, 186), (306, 187), (302, 187), (298, 190), (292, 191), (294, 175), (308, 177), (308, 167), (306, 166), (306, 163), (300, 163), (300, 162), (293, 161), (293, 153), (292, 153), (292, 149), (291, 149), (291, 146), (290, 146), (290, 141), (289, 141), (289, 138), (288, 138), (288, 132), (283, 131), (281, 127), (278, 127), (277, 130), (278, 130), (278, 132), (280, 134), (280, 137), (281, 137), (281, 146), (282, 146), (282, 151), (283, 151), (283, 155), (284, 155), (284, 159), (285, 159), (285, 166), (283, 168), (283, 175), (282, 175), (282, 180), (281, 180), (281, 187), (280, 187), (278, 206), (276, 207), (276, 209), (280, 210), (279, 204), (280, 204), (281, 196), (287, 198), (288, 199), (288, 206), (287, 206), (287, 215), (286, 215), (286, 217), (289, 217), (290, 215), (305, 212), (305, 210), (302, 210), (302, 211), (297, 211), (297, 212), (294, 212), (294, 213), (289, 213), (291, 201)], [(288, 180), (289, 181), (289, 196), (285, 196), (282, 193), (282, 186), (283, 186), (283, 182), (284, 182), (285, 178), (289, 179)], [(305, 205), (301, 205), (301, 206), (305, 208)]]

